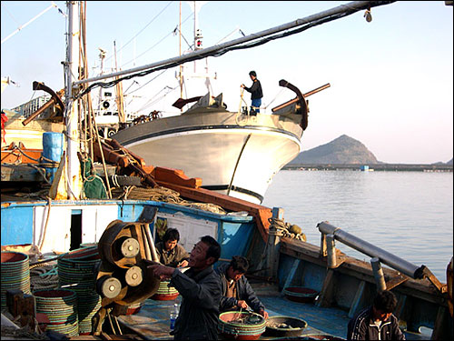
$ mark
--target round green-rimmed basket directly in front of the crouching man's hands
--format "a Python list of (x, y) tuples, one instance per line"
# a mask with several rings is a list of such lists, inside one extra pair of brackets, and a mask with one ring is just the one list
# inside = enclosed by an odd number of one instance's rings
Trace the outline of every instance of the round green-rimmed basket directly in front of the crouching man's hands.
[[(255, 316), (258, 319), (258, 323), (244, 324), (233, 322), (233, 320), (247, 316)], [(265, 324), (265, 318), (259, 314), (247, 311), (228, 311), (219, 316), (218, 331), (236, 340), (257, 340), (265, 331)]]

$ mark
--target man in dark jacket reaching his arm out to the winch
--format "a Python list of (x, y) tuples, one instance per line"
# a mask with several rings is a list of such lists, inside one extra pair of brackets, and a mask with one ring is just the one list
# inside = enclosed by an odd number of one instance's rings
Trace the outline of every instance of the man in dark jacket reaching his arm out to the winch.
[(171, 279), (182, 298), (175, 321), (175, 340), (217, 340), (221, 281), (213, 264), (221, 256), (221, 246), (212, 236), (203, 236), (191, 251), (190, 268), (183, 274), (178, 268), (154, 263), (148, 266), (160, 279)]

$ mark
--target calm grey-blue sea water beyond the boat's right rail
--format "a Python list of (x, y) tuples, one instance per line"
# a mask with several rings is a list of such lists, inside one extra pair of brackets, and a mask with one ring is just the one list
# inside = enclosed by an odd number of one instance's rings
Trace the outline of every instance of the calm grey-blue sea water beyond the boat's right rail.
[[(320, 246), (317, 224), (328, 221), (351, 235), (427, 266), (446, 283), (453, 255), (453, 173), (281, 170), (262, 205), (282, 207), (284, 220)], [(370, 256), (336, 241), (348, 256)]]

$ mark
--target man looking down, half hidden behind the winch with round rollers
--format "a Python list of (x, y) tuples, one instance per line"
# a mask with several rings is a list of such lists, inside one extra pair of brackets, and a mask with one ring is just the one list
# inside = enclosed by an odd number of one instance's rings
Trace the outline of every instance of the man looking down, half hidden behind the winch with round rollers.
[(156, 244), (159, 261), (164, 266), (188, 266), (189, 254), (183, 246), (179, 245), (180, 233), (176, 228), (168, 228), (163, 236), (163, 241)]

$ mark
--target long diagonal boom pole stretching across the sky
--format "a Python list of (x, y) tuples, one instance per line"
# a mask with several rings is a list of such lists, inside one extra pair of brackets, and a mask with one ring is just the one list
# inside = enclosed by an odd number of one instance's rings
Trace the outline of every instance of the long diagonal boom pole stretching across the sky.
[(339, 5), (337, 7), (333, 7), (331, 9), (329, 9), (329, 10), (320, 12), (320, 13), (315, 14), (315, 15), (309, 15), (309, 16), (306, 16), (306, 17), (304, 17), (302, 19), (293, 20), (290, 23), (287, 23), (287, 24), (284, 24), (284, 25), (275, 26), (275, 27), (269, 28), (267, 30), (260, 31), (258, 33), (252, 34), (252, 35), (246, 35), (244, 37), (231, 40), (231, 41), (223, 43), (221, 45), (214, 45), (214, 46), (211, 46), (211, 47), (203, 48), (203, 49), (198, 50), (198, 51), (194, 51), (194, 52), (192, 52), (190, 54), (187, 54), (187, 55), (173, 57), (173, 58), (165, 59), (165, 60), (160, 61), (160, 62), (134, 67), (134, 68), (129, 69), (129, 70), (123, 70), (123, 71), (119, 71), (119, 72), (114, 72), (113, 74), (109, 74), (109, 75), (100, 75), (100, 76), (93, 77), (93, 78), (83, 79), (83, 80), (80, 80), (78, 82), (75, 82), (74, 85), (79, 85), (79, 84), (83, 84), (83, 83), (91, 83), (91, 82), (98, 81), (98, 80), (101, 80), (101, 79), (111, 78), (111, 77), (114, 77), (115, 75), (133, 74), (135, 72), (139, 72), (139, 71), (143, 71), (143, 70), (147, 70), (147, 69), (152, 69), (154, 67), (161, 66), (161, 65), (167, 65), (167, 64), (172, 64), (172, 63), (180, 63), (180, 62), (184, 63), (185, 60), (188, 60), (188, 59), (190, 59), (190, 58), (192, 58), (194, 56), (201, 55), (201, 58), (203, 58), (207, 54), (210, 54), (210, 53), (213, 53), (213, 52), (217, 52), (217, 51), (222, 50), (223, 48), (226, 48), (226, 47), (231, 47), (231, 46), (234, 46), (234, 45), (240, 45), (240, 44), (243, 44), (243, 43), (258, 39), (258, 38), (262, 38), (262, 37), (267, 36), (267, 35), (273, 35), (273, 34), (276, 34), (278, 32), (285, 31), (285, 30), (288, 30), (288, 29), (291, 29), (291, 28), (295, 28), (295, 27), (298, 27), (298, 26), (301, 26), (301, 25), (310, 24), (312, 21), (325, 19), (325, 18), (328, 18), (328, 17), (330, 17), (332, 15), (339, 15), (341, 13), (345, 13), (346, 9), (350, 9), (350, 11), (351, 11), (350, 13), (348, 13), (346, 15), (351, 15), (351, 14), (356, 13), (356, 12), (362, 10), (362, 9), (367, 9), (369, 7), (375, 7), (375, 6), (379, 6), (379, 5), (389, 5), (390, 3), (391, 2), (388, 2), (388, 1), (386, 1), (386, 2), (353, 1), (353, 2), (350, 2), (350, 3), (345, 4), (345, 5)]

